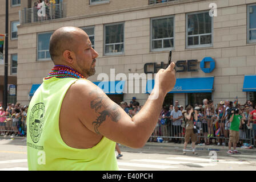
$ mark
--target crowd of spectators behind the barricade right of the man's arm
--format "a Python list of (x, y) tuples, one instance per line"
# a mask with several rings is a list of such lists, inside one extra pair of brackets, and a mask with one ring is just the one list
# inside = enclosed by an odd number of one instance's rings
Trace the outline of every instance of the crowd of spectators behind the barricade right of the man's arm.
[[(185, 142), (186, 129), (186, 109), (175, 101), (173, 105), (165, 105), (162, 108), (159, 120), (155, 126), (154, 133), (150, 141), (157, 142), (157, 137), (163, 137), (163, 142)], [(230, 137), (230, 117), (231, 109), (237, 108), (239, 119), (239, 141), (237, 146), (243, 143), (250, 143), (251, 138), (255, 136), (256, 127), (256, 106), (252, 101), (246, 101), (241, 105), (238, 101), (220, 101), (217, 105), (211, 100), (203, 100), (202, 104), (195, 104), (193, 110), (197, 111), (197, 121), (194, 125), (197, 127), (196, 144), (217, 144), (218, 146), (228, 146)], [(253, 143), (251, 143), (253, 145)]]

